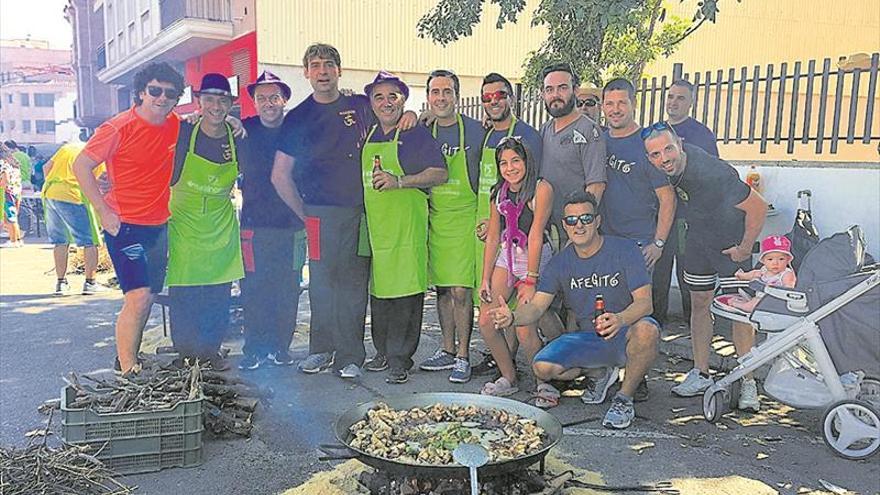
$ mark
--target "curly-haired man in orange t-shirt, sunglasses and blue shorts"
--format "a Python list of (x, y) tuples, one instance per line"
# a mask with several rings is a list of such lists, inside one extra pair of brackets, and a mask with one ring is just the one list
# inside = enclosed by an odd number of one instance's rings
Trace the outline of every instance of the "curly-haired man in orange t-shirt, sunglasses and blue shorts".
[[(98, 213), (107, 251), (125, 294), (116, 319), (120, 370), (137, 364), (144, 325), (167, 263), (166, 222), (174, 145), (180, 122), (172, 110), (183, 77), (166, 63), (134, 77), (135, 107), (104, 122), (73, 164), (83, 194)], [(92, 174), (107, 164), (110, 191), (102, 195)]]

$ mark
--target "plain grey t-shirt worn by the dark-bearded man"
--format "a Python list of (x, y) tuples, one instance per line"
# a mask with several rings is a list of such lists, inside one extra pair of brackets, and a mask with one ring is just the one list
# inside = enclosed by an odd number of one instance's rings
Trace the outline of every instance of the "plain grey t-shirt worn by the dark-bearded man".
[(555, 222), (562, 218), (565, 198), (572, 191), (606, 182), (606, 156), (602, 130), (592, 120), (581, 115), (559, 132), (554, 120), (541, 126), (541, 175), (553, 186), (551, 218)]

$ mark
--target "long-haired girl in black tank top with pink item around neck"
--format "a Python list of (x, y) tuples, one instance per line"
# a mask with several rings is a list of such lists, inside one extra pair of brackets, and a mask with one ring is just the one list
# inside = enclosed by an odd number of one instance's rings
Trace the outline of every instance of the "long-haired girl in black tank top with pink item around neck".
[[(528, 304), (535, 295), (541, 269), (550, 261), (547, 221), (553, 207), (553, 188), (538, 178), (529, 150), (519, 137), (502, 139), (495, 149), (498, 182), (492, 187), (492, 206), (480, 284), (480, 333), (498, 363), (501, 377), (483, 386), (485, 395), (508, 396), (519, 391), (504, 331), (496, 330), (490, 306), (506, 304), (516, 290), (516, 303)], [(537, 325), (516, 328), (516, 340), (531, 363), (541, 348)]]

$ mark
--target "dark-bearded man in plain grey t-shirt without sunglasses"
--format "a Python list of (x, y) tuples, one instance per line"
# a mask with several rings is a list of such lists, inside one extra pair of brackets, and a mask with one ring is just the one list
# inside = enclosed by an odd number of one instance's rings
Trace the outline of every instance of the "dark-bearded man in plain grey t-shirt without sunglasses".
[(565, 231), (559, 229), (566, 197), (583, 189), (602, 200), (605, 191), (605, 142), (599, 125), (577, 110), (578, 76), (566, 63), (542, 71), (544, 106), (553, 117), (541, 127), (544, 143), (541, 175), (553, 185), (551, 223), (559, 232), (559, 248)]

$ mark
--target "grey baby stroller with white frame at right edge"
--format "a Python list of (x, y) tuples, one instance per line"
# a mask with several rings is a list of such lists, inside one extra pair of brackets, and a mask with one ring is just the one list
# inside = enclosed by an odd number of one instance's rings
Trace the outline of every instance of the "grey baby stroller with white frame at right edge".
[(765, 295), (751, 314), (713, 303), (720, 317), (768, 333), (703, 395), (717, 421), (739, 399), (739, 380), (773, 362), (765, 391), (793, 407), (825, 408), (822, 433), (835, 454), (864, 459), (880, 448), (880, 265), (858, 226), (823, 239), (804, 256), (797, 287), (750, 287)]

